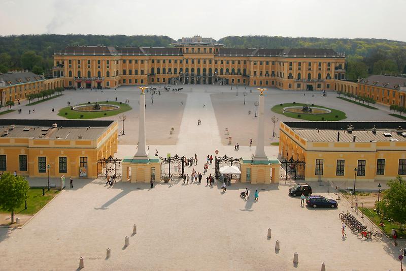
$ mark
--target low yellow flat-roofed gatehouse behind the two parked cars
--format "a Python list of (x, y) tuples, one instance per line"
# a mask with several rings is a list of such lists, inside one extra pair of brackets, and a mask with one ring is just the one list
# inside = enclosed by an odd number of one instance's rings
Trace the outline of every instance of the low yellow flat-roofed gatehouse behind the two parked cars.
[(301, 162), (307, 181), (384, 181), (406, 175), (404, 128), (406, 122), (281, 122), (279, 155), (287, 166)]

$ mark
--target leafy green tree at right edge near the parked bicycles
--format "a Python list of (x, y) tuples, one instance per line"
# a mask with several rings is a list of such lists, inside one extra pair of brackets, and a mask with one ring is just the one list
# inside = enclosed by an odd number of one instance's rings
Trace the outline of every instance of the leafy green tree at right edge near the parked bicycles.
[(386, 219), (392, 219), (400, 223), (400, 226), (406, 222), (406, 182), (400, 176), (389, 180), (389, 189), (382, 192), (380, 202), (375, 204), (379, 214)]

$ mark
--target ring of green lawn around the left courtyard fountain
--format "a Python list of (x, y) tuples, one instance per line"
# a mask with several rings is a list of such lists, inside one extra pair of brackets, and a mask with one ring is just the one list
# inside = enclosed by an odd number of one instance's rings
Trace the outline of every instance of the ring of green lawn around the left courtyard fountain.
[[(118, 105), (120, 108), (112, 111), (103, 111), (103, 112), (79, 112), (71, 109), (71, 106), (64, 107), (59, 110), (58, 115), (63, 116), (65, 118), (69, 119), (91, 119), (91, 118), (97, 118), (97, 117), (105, 117), (105, 116), (114, 116), (117, 114), (120, 114), (122, 112), (131, 110), (131, 106), (128, 104), (120, 104), (119, 102), (106, 102), (106, 101), (99, 101), (100, 104), (112, 104), (112, 105)], [(85, 105), (88, 103), (84, 103), (81, 105)], [(94, 103), (90, 103), (94, 104)], [(83, 117), (81, 117), (83, 115)]]

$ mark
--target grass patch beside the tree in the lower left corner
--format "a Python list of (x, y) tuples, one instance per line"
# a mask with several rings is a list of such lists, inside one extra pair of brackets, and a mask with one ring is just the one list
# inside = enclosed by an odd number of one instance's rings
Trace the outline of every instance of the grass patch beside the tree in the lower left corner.
[[(27, 196), (27, 209), (25, 210), (25, 202), (21, 204), (15, 211), (15, 214), (33, 215), (36, 214), (42, 207), (45, 206), (52, 198), (59, 193), (59, 190), (51, 189), (47, 191), (45, 188), (45, 196), (42, 195), (42, 188), (31, 188), (28, 190)], [(5, 210), (0, 209), (2, 213), (8, 213)]]

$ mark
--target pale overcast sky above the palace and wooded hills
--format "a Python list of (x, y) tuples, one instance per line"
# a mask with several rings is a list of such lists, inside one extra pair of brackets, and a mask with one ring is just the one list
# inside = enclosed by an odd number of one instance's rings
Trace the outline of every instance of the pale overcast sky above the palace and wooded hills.
[(0, 0), (0, 35), (267, 35), (406, 41), (406, 0)]

